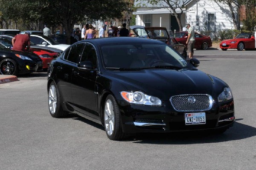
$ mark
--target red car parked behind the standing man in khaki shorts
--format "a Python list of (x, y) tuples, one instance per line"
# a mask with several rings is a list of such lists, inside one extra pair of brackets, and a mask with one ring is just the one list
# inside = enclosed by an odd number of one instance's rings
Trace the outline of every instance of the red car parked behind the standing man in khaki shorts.
[[(170, 37), (175, 37), (175, 39), (179, 42), (184, 44), (187, 47), (186, 40), (188, 39), (188, 32), (176, 32)], [(195, 32), (195, 49), (208, 49), (208, 47), (212, 46), (212, 40), (208, 36), (204, 36)]]

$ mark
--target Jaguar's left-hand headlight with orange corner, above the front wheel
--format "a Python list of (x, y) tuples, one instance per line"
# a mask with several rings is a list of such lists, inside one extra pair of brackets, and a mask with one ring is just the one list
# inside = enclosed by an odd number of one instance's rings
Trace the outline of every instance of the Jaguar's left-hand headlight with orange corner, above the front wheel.
[(146, 95), (143, 92), (120, 92), (121, 96), (125, 101), (134, 104), (143, 104), (149, 106), (160, 106), (162, 101), (154, 96)]

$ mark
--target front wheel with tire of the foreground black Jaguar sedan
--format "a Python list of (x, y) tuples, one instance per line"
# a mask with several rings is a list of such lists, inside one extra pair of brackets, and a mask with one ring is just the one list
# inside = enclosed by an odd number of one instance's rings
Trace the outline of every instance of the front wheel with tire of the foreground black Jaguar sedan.
[(125, 133), (122, 132), (119, 107), (113, 95), (108, 95), (104, 105), (104, 127), (109, 139), (122, 140)]

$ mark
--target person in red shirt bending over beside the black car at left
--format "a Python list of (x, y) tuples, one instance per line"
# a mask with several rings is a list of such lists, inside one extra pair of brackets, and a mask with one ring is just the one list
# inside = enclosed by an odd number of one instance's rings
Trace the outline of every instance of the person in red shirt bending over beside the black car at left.
[(25, 34), (17, 34), (12, 38), (12, 49), (15, 51), (29, 51), (30, 48), (30, 35), (25, 32)]

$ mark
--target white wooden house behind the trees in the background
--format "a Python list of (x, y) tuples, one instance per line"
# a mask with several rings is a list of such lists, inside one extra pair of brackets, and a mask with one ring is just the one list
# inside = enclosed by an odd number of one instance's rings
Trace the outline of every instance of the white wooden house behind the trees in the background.
[[(220, 30), (234, 29), (232, 15), (227, 4), (217, 0), (180, 0), (180, 5), (184, 1), (183, 14), (180, 14), (180, 9), (176, 9), (182, 26), (190, 23), (197, 32), (210, 31), (212, 35)], [(171, 10), (167, 9), (165, 3), (152, 6), (146, 3), (146, 0), (141, 0), (141, 2), (144, 2), (145, 5), (133, 12), (136, 14), (136, 25), (163, 26), (172, 32), (175, 29), (179, 31), (177, 20), (171, 14)], [(141, 3), (138, 1), (134, 2), (134, 6), (138, 7), (139, 4)], [(238, 20), (238, 10), (234, 4), (233, 7), (236, 20)]]

